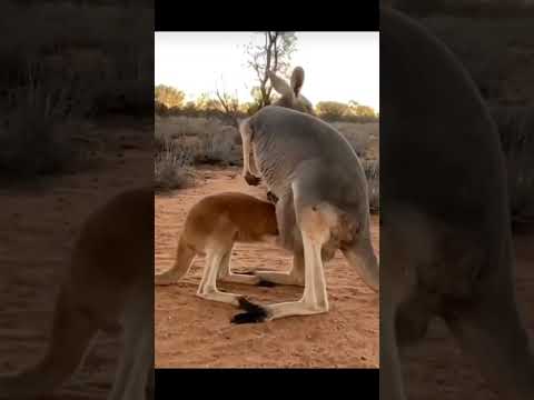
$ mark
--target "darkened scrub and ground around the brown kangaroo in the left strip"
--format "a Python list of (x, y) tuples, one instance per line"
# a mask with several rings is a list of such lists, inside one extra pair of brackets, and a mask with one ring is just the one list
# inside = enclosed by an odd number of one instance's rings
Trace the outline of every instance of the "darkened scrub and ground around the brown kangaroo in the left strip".
[[(0, 32), (3, 374), (44, 354), (81, 223), (118, 192), (152, 186), (154, 6), (4, 1)], [(100, 334), (57, 398), (107, 398), (118, 339)]]

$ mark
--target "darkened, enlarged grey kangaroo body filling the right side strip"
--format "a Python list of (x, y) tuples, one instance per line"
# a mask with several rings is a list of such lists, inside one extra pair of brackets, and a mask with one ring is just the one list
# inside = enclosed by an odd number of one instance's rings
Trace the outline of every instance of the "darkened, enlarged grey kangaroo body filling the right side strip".
[(386, 8), (380, 64), (380, 399), (406, 398), (397, 347), (434, 316), (503, 399), (533, 399), (495, 123), (453, 53)]

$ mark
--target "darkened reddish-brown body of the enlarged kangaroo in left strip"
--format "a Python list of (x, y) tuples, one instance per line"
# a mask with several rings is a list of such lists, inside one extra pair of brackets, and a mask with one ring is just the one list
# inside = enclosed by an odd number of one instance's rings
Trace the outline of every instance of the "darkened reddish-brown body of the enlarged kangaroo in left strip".
[[(149, 321), (146, 304), (152, 301), (152, 273), (154, 191), (125, 191), (82, 226), (56, 302), (48, 351), (20, 373), (0, 377), (0, 396), (33, 398), (52, 392), (75, 372), (99, 330), (122, 328), (125, 334), (140, 334), (129, 318), (138, 314)], [(150, 372), (151, 364), (146, 367)], [(125, 379), (139, 378), (119, 370), (117, 380)], [(112, 390), (113, 398), (134, 396), (129, 388)]]

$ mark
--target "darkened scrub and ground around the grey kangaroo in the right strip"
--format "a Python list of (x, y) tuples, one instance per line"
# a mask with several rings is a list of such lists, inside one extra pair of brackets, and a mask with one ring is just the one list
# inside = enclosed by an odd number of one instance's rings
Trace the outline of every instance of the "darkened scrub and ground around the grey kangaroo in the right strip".
[[(469, 72), (490, 107), (506, 159), (517, 303), (533, 338), (534, 3), (522, 0), (383, 0), (382, 3), (404, 11), (441, 39)], [(457, 146), (459, 150), (462, 143)], [(474, 153), (473, 158), (476, 157)], [(402, 356), (412, 400), (497, 399), (438, 319), (431, 324), (425, 340), (404, 349)]]

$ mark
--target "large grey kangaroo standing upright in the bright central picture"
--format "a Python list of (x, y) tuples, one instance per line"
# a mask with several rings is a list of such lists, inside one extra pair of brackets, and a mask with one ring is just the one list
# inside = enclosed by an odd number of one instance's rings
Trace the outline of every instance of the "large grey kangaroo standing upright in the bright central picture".
[[(327, 312), (322, 253), (332, 257), (336, 249), (374, 291), (379, 286), (367, 183), (358, 157), (335, 128), (313, 116), (309, 101), (300, 94), (301, 68), (294, 70), (290, 86), (275, 73), (270, 80), (281, 97), (240, 124), (243, 176), (250, 184), (264, 179), (278, 199), (278, 243), (296, 254), (304, 252), (305, 288), (298, 301), (258, 306), (244, 300), (241, 307), (248, 312), (236, 316), (234, 322)], [(257, 274), (266, 281), (283, 276), (287, 281), (288, 276)]]

